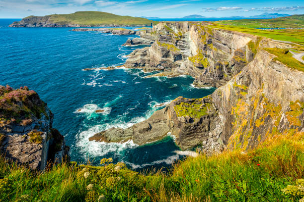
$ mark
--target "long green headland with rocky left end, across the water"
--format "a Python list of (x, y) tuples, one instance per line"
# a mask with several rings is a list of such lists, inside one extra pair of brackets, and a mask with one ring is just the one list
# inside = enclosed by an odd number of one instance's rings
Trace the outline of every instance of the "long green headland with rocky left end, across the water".
[(107, 12), (79, 11), (72, 14), (28, 16), (10, 27), (90, 27), (90, 26), (151, 26), (157, 24), (149, 19), (120, 16)]

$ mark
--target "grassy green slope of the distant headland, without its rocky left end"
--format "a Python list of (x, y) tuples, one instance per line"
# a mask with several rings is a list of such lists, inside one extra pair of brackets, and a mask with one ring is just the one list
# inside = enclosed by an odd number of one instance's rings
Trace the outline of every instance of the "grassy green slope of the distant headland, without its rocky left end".
[[(30, 18), (32, 16), (26, 17)], [(79, 11), (72, 14), (53, 14), (50, 21), (58, 24), (78, 24), (83, 26), (97, 25), (153, 25), (157, 22), (140, 17), (120, 16), (107, 12)]]

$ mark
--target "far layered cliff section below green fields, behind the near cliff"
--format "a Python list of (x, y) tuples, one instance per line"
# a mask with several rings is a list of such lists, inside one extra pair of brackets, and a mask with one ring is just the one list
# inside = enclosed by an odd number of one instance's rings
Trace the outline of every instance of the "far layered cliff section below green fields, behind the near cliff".
[[(209, 23), (159, 23), (145, 34), (151, 47), (133, 51), (126, 68), (167, 71), (195, 78), (197, 87), (220, 87), (241, 71), (255, 55), (260, 38), (228, 30), (212, 29)], [(145, 39), (141, 37), (142, 40)], [(136, 39), (141, 43), (140, 39)], [(128, 40), (126, 44), (132, 44)], [(157, 76), (157, 75), (156, 75)]]

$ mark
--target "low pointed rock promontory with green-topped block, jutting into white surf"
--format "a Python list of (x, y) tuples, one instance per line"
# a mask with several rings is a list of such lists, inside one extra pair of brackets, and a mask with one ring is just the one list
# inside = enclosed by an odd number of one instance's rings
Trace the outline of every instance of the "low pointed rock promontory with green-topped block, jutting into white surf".
[(90, 141), (125, 142), (144, 145), (171, 133), (177, 145), (185, 150), (202, 145), (205, 152), (222, 150), (221, 118), (212, 105), (211, 98), (186, 99), (179, 97), (165, 108), (156, 111), (146, 121), (129, 128), (111, 128), (90, 137)]

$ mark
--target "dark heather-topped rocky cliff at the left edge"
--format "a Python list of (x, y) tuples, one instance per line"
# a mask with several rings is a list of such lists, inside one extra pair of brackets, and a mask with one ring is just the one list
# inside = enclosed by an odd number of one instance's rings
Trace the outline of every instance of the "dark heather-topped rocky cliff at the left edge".
[(0, 86), (0, 153), (5, 158), (38, 170), (69, 160), (69, 147), (52, 123), (52, 112), (36, 92)]

